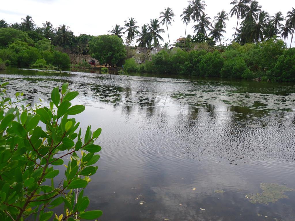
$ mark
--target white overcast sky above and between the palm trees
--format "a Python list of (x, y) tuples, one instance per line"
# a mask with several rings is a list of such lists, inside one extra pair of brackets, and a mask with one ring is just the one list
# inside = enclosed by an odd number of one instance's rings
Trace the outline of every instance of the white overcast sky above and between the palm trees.
[[(291, 11), (295, 7), (294, 0), (258, 0), (262, 6), (262, 10), (268, 11), (270, 15), (274, 15), (277, 11), (282, 11), (286, 16), (287, 11)], [(231, 0), (206, 0), (206, 14), (212, 18), (217, 12), (224, 9), (229, 13), (231, 9)], [(146, 3), (146, 4), (142, 4)], [(109, 0), (109, 1), (78, 1), (78, 0), (1, 0), (0, 19), (4, 19), (8, 24), (21, 22), (21, 18), (26, 15), (32, 16), (35, 24), (42, 27), (42, 23), (50, 21), (54, 27), (66, 24), (74, 32), (74, 35), (106, 34), (112, 26), (119, 24), (124, 25), (124, 21), (128, 17), (134, 17), (141, 27), (142, 24), (148, 23), (151, 18), (158, 18), (160, 11), (165, 7), (173, 9), (175, 22), (169, 28), (171, 44), (181, 36), (184, 36), (185, 25), (182, 24), (180, 15), (183, 8), (188, 6), (186, 0)], [(230, 18), (227, 22), (225, 39), (232, 38), (237, 20), (235, 17)], [(194, 24), (189, 24), (187, 34), (193, 35), (191, 27)], [(166, 30), (166, 26), (163, 26)], [(208, 33), (209, 34), (209, 33)], [(168, 42), (167, 31), (161, 35), (164, 42)], [(290, 45), (291, 36), (287, 41)], [(294, 41), (294, 39), (293, 39)], [(164, 42), (161, 42), (163, 44)], [(292, 43), (295, 46), (295, 43)]]

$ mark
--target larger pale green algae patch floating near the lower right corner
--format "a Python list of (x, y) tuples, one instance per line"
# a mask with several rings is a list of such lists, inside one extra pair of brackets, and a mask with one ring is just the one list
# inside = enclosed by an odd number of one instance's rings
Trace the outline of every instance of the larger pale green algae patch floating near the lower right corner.
[(279, 199), (288, 198), (284, 194), (285, 192), (294, 190), (284, 185), (279, 185), (275, 183), (262, 183), (260, 184), (260, 187), (263, 190), (262, 193), (246, 195), (246, 198), (248, 198), (251, 203), (260, 203), (260, 204), (268, 204), (270, 202), (275, 203)]

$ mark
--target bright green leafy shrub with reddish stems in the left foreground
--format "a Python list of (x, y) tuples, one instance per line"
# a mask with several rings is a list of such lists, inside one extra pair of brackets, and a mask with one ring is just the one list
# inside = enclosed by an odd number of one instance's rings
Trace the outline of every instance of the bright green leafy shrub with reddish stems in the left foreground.
[[(89, 199), (83, 195), (97, 170), (93, 165), (100, 156), (95, 153), (101, 147), (94, 142), (101, 128), (91, 132), (88, 126), (82, 138), (79, 123), (70, 117), (85, 109), (71, 104), (78, 92), (64, 83), (60, 90), (52, 90), (49, 108), (41, 101), (32, 107), (25, 105), (23, 93), (13, 99), (7, 96), (7, 84), (0, 82), (0, 220), (75, 221), (101, 216), (100, 210), (86, 211)], [(58, 184), (59, 165), (66, 169)], [(63, 214), (53, 217), (57, 206), (63, 207)]]

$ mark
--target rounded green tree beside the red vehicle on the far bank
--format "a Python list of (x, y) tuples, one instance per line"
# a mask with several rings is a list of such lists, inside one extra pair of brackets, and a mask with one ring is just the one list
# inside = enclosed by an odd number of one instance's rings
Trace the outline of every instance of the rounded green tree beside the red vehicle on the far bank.
[(100, 35), (89, 42), (91, 56), (99, 60), (101, 64), (121, 66), (126, 50), (123, 40), (116, 35)]

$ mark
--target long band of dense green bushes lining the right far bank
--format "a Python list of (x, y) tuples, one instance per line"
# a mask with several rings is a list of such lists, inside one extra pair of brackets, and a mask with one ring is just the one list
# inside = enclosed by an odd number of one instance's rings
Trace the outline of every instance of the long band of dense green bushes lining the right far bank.
[[(217, 49), (217, 48), (216, 48)], [(139, 65), (135, 59), (125, 62), (129, 72), (157, 72), (200, 77), (263, 78), (295, 81), (295, 50), (287, 49), (273, 37), (260, 44), (233, 43), (220, 50), (162, 50), (151, 61)]]

